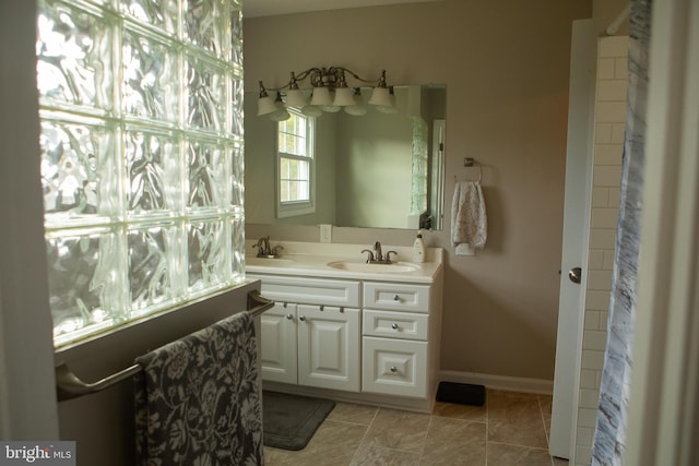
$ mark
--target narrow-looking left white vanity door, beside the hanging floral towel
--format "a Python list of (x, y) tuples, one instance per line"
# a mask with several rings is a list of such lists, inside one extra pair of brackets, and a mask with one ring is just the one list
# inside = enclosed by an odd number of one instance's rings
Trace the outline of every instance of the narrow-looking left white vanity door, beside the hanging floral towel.
[(262, 380), (297, 382), (296, 307), (276, 303), (274, 308), (262, 313)]

